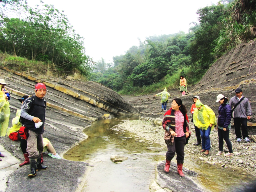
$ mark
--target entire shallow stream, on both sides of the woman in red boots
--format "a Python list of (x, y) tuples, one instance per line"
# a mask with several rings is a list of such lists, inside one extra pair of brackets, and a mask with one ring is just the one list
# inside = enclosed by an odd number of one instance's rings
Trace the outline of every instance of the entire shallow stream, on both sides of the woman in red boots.
[[(136, 119), (138, 116), (129, 118)], [(124, 120), (127, 118), (94, 122), (84, 130), (88, 138), (64, 155), (65, 159), (84, 161), (93, 166), (87, 171), (81, 191), (149, 191), (157, 163), (165, 160), (166, 147), (144, 142), (133, 133), (117, 129), (115, 125)], [(123, 155), (128, 159), (113, 163), (111, 155)], [(190, 158), (185, 156), (184, 166), (198, 173), (198, 183), (208, 191), (228, 191), (230, 186), (252, 178), (244, 175), (242, 170), (224, 169)]]

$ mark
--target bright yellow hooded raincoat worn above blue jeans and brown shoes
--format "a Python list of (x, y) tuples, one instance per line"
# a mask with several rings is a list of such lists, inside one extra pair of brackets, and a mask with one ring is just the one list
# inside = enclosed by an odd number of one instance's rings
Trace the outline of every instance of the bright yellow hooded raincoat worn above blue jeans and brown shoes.
[(200, 110), (195, 109), (194, 111), (193, 120), (195, 126), (199, 129), (207, 130), (211, 123), (213, 128), (214, 125), (217, 125), (215, 113), (207, 105), (203, 105), (199, 100), (197, 100), (196, 107), (200, 106), (202, 106)]

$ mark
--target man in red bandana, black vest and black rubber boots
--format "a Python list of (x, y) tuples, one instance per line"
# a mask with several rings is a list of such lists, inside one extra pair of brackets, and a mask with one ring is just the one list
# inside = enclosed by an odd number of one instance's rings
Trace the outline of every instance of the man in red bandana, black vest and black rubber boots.
[(45, 84), (37, 83), (35, 85), (35, 95), (27, 98), (21, 107), (20, 116), (26, 119), (23, 126), (28, 128), (29, 133), (27, 152), (29, 154), (31, 172), (28, 176), (35, 176), (37, 170), (47, 169), (47, 166), (41, 165), (41, 154), (44, 149), (45, 94)]

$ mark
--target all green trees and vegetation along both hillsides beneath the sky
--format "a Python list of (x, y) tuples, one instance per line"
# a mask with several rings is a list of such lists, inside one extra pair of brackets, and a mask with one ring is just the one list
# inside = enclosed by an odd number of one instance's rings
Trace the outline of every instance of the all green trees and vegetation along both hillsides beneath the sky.
[(95, 64), (85, 53), (83, 37), (53, 5), (41, 2), (43, 8), (31, 8), (25, 0), (0, 5), (3, 66), (50, 76), (80, 75), (77, 79), (100, 82), (120, 94), (177, 88), (180, 75), (188, 86), (196, 84), (223, 54), (256, 37), (256, 2), (223, 0), (199, 8), (199, 23), (191, 23), (188, 33), (139, 39), (139, 46), (113, 57), (113, 63), (102, 58)]

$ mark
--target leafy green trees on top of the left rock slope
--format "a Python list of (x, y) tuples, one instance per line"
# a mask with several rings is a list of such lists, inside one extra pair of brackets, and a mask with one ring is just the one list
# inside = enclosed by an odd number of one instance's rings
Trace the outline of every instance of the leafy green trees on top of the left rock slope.
[(58, 69), (60, 76), (73, 72), (88, 76), (92, 60), (85, 54), (83, 37), (74, 33), (67, 16), (54, 5), (41, 4), (40, 9), (29, 7), (25, 0), (0, 1), (0, 52), (42, 61)]

